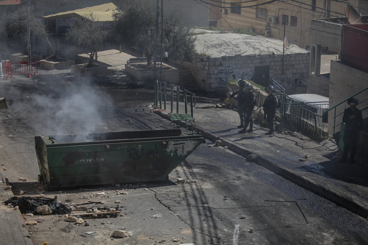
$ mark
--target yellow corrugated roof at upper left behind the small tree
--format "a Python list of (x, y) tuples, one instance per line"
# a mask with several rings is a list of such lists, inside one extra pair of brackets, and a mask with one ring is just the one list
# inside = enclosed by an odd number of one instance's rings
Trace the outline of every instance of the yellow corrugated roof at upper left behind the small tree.
[(113, 21), (112, 14), (116, 8), (115, 4), (109, 0), (82, 0), (77, 4), (66, 5), (46, 11), (42, 13), (42, 18), (65, 18), (79, 15), (88, 19), (89, 14), (92, 12), (98, 21)]

